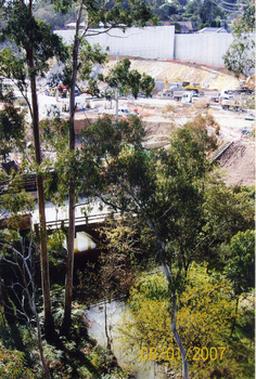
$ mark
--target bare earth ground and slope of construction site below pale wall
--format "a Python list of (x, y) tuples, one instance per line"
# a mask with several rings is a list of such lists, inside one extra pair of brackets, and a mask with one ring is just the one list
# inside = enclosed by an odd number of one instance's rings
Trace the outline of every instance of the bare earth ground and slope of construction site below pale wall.
[[(121, 58), (121, 57), (119, 57)], [(130, 58), (131, 69), (151, 75), (155, 81), (174, 80), (200, 83), (202, 90), (221, 91), (234, 88), (240, 81), (223, 67), (212, 67), (202, 64), (192, 64), (177, 61), (157, 61)], [(112, 57), (104, 73), (112, 68), (116, 58)], [(223, 110), (218, 104), (210, 104), (205, 109), (200, 106), (187, 106), (168, 100), (138, 99), (137, 101), (120, 100), (119, 109), (127, 108), (136, 112), (142, 118), (146, 129), (145, 147), (166, 146), (174, 128), (192, 120), (196, 115), (212, 115), (220, 127), (218, 136), (219, 148), (229, 143), (229, 147), (219, 155), (220, 167), (226, 174), (229, 185), (254, 185), (255, 184), (255, 109), (245, 112)], [(114, 105), (113, 105), (114, 109)], [(90, 123), (99, 116), (93, 109), (76, 114), (76, 133), (85, 123)], [(243, 133), (243, 131), (249, 131)]]

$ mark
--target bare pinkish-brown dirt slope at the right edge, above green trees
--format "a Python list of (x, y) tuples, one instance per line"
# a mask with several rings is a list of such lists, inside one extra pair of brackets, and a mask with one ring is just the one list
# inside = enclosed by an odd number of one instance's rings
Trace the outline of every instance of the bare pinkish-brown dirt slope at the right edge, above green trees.
[(218, 160), (228, 185), (255, 185), (255, 142), (233, 142)]

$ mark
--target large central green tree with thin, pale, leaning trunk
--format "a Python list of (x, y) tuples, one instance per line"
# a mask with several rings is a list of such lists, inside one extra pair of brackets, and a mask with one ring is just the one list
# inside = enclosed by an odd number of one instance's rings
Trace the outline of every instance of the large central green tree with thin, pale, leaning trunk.
[(171, 330), (181, 349), (185, 378), (185, 352), (176, 329), (176, 299), (184, 289), (191, 263), (203, 254), (203, 181), (210, 170), (206, 152), (216, 143), (205, 123), (197, 117), (175, 131), (168, 151), (145, 152), (141, 144), (144, 129), (138, 118), (118, 123), (100, 119), (85, 131), (85, 177), (80, 171), (87, 193), (115, 210), (136, 213), (155, 238), (155, 253), (168, 280)]

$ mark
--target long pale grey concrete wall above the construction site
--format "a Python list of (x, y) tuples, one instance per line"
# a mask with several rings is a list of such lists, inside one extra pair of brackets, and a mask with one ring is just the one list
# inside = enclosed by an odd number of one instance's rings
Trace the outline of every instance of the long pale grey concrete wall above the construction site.
[[(215, 66), (223, 66), (222, 55), (227, 52), (233, 37), (228, 32), (205, 32), (175, 35), (175, 27), (152, 26), (145, 28), (91, 29), (93, 37), (88, 41), (99, 43), (102, 49), (110, 48), (110, 54), (137, 56), (142, 58), (181, 60)], [(99, 34), (102, 31), (102, 34)], [(66, 43), (74, 38), (74, 30), (56, 30)]]

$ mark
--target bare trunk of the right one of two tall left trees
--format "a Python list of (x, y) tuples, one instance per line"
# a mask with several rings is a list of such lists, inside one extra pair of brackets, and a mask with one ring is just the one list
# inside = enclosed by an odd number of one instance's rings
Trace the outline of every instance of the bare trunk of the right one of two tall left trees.
[[(73, 78), (69, 94), (69, 149), (75, 151), (75, 84), (77, 78), (77, 61), (79, 51), (80, 12), (78, 13), (75, 40), (73, 45)], [(73, 269), (74, 269), (74, 240), (75, 240), (75, 183), (71, 179), (68, 184), (68, 238), (67, 238), (67, 261), (65, 282), (65, 308), (62, 324), (62, 334), (67, 335), (72, 324), (72, 290), (73, 290)]]

